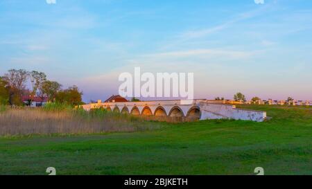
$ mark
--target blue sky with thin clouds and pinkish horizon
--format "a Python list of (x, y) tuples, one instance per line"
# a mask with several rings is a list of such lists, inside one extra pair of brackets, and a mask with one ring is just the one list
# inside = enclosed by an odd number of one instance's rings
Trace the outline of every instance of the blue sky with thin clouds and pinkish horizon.
[(311, 0), (0, 0), (0, 75), (43, 71), (83, 100), (123, 72), (194, 73), (195, 98), (312, 100)]

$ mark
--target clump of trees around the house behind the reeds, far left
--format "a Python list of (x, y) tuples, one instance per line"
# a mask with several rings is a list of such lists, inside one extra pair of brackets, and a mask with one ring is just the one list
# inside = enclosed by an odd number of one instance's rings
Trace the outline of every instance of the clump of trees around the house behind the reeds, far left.
[(29, 96), (28, 105), (31, 105), (35, 96), (42, 102), (48, 100), (67, 105), (83, 104), (83, 91), (76, 85), (62, 89), (62, 84), (48, 80), (43, 72), (10, 69), (0, 76), (0, 105), (25, 105), (22, 96)]

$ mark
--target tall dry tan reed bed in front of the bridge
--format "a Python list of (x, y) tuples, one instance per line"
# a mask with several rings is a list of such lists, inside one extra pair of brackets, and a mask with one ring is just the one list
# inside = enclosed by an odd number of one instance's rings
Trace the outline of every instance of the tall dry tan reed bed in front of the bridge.
[(28, 134), (90, 134), (157, 129), (159, 124), (112, 113), (7, 109), (0, 112), (0, 136)]

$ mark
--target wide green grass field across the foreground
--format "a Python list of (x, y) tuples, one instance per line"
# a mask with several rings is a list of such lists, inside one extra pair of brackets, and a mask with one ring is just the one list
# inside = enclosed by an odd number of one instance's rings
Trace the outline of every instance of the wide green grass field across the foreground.
[[(251, 106), (264, 123), (154, 123), (110, 134), (2, 136), (0, 174), (312, 174), (312, 108)], [(1, 121), (1, 120), (0, 120)], [(159, 127), (159, 124), (162, 127)]]

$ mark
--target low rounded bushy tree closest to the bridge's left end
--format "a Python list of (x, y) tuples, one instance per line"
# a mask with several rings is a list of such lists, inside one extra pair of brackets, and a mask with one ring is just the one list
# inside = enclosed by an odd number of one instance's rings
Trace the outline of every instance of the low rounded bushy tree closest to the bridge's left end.
[(69, 87), (68, 89), (59, 91), (56, 95), (56, 102), (68, 105), (82, 105), (83, 104), (83, 92), (78, 89), (76, 85)]

